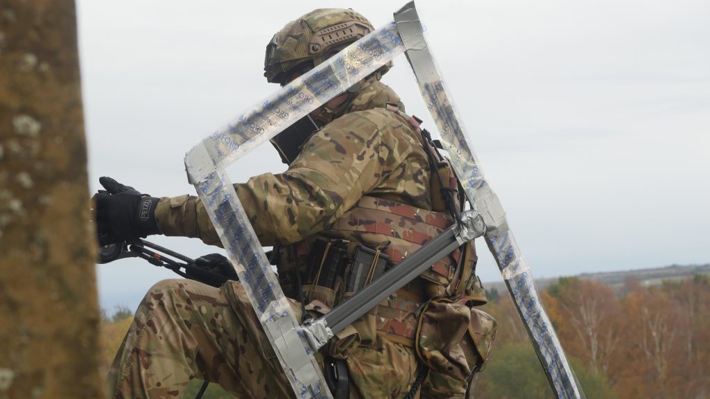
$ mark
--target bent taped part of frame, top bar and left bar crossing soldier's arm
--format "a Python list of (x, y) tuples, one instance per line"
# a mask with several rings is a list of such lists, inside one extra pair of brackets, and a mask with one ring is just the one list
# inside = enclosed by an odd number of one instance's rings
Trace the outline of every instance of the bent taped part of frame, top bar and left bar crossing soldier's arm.
[[(404, 50), (395, 23), (388, 23), (232, 119), (185, 156), (188, 180), (195, 185), (297, 398), (332, 396), (309, 337), (283, 295), (224, 168)], [(318, 340), (327, 340), (326, 336), (322, 331), (315, 334)]]

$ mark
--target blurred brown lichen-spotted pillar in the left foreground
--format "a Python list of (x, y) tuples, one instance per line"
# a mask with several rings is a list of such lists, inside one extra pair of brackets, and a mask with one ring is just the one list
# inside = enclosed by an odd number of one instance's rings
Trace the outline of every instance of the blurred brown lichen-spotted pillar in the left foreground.
[(72, 0), (0, 1), (0, 399), (102, 398)]

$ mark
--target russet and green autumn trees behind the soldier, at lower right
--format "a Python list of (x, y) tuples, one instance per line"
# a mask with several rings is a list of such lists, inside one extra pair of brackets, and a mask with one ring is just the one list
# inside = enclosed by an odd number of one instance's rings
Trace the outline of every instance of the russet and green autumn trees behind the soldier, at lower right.
[[(491, 292), (498, 336), (477, 398), (554, 398), (513, 302)], [(644, 287), (560, 278), (541, 293), (587, 398), (708, 398), (710, 281)]]

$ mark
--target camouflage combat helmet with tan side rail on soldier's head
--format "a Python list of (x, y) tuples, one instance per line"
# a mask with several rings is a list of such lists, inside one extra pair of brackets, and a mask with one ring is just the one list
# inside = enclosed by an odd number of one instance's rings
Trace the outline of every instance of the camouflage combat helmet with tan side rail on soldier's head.
[(374, 28), (351, 9), (317, 9), (286, 24), (266, 46), (264, 76), (284, 84), (284, 73), (309, 70)]

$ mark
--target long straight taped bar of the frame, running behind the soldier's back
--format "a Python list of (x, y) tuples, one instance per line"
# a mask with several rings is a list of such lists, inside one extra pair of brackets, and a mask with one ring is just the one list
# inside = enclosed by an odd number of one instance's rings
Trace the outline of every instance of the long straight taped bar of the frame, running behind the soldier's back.
[(523, 323), (528, 327), (530, 339), (545, 368), (552, 390), (557, 398), (581, 398), (583, 393), (574, 382), (572, 368), (537, 297), (530, 268), (520, 255), (503, 207), (488, 185), (476, 153), (466, 138), (459, 113), (450, 99), (449, 90), (427, 46), (413, 2), (395, 13), (395, 23), (408, 49), (405, 55), (414, 70), (427, 109), (439, 129), (444, 149), (449, 153), (452, 166), (471, 207), (478, 211), (484, 220), (484, 237), (488, 248), (506, 278), (506, 283), (513, 283), (508, 284), (508, 291), (520, 310)]

